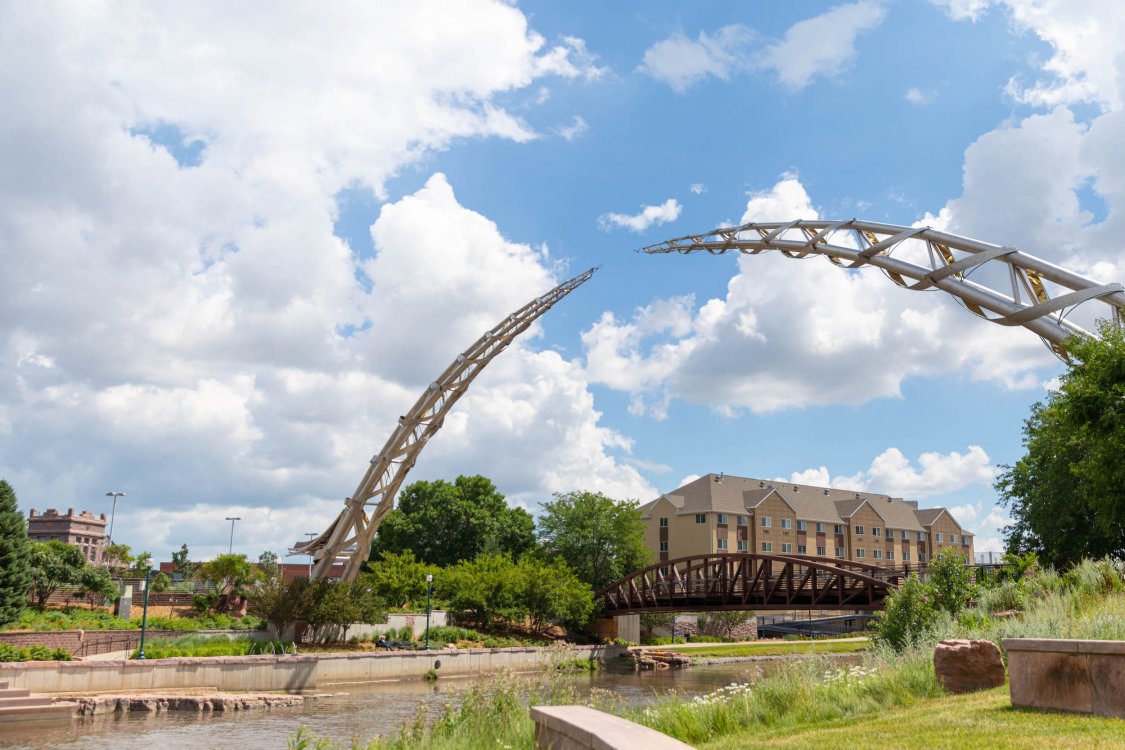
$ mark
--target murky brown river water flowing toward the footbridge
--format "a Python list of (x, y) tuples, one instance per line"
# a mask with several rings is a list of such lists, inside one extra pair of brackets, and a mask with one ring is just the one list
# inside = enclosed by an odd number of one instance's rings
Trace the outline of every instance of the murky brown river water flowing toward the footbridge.
[[(611, 690), (630, 704), (649, 703), (670, 694), (691, 698), (731, 683), (752, 680), (778, 662), (711, 665), (667, 671), (618, 674), (608, 670), (567, 676), (579, 696), (592, 688)], [(531, 676), (528, 676), (531, 677)], [(396, 731), (420, 710), (436, 716), (441, 707), (477, 680), (442, 678), (376, 683), (344, 688), (302, 706), (245, 712), (120, 714), (75, 719), (70, 723), (0, 724), (0, 748), (64, 748), (65, 750), (258, 750), (286, 747), (300, 724), (316, 737), (328, 737), (342, 747), (354, 738), (369, 740)], [(336, 689), (336, 688), (327, 688)]]

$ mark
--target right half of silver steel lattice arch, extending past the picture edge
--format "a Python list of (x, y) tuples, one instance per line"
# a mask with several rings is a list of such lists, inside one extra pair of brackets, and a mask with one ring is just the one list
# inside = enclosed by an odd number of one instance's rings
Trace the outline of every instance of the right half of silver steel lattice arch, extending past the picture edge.
[[(924, 250), (929, 259), (928, 266), (894, 257), (896, 250), (907, 246)], [(900, 287), (940, 289), (987, 320), (1035, 332), (1063, 359), (1070, 336), (1094, 335), (1066, 319), (1078, 305), (1091, 299), (1105, 302), (1110, 308), (1110, 319), (1125, 323), (1125, 293), (1119, 283), (1100, 283), (1015, 247), (958, 237), (929, 227), (857, 219), (750, 223), (667, 240), (638, 252), (721, 255), (737, 251), (756, 255), (771, 250), (798, 259), (822, 255), (845, 269), (873, 265)], [(1010, 295), (969, 278), (972, 271), (989, 262), (1007, 265)], [(1062, 293), (1052, 297), (1045, 282), (1058, 284)]]

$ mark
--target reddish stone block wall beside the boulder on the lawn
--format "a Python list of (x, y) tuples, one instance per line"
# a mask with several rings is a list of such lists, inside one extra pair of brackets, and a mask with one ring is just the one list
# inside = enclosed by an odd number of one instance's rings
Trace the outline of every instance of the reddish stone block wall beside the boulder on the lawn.
[(1125, 719), (1125, 641), (1006, 638), (1011, 705)]

